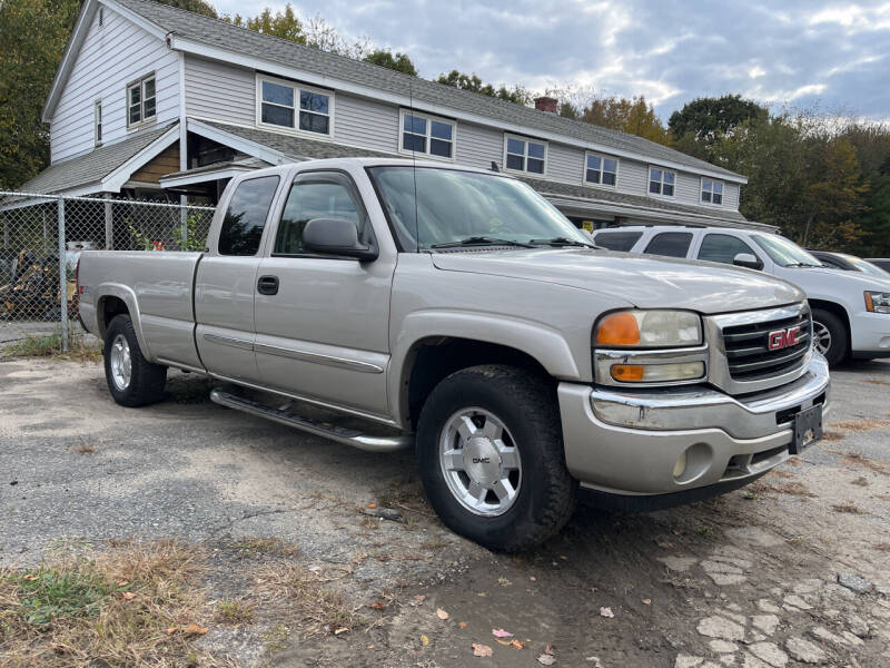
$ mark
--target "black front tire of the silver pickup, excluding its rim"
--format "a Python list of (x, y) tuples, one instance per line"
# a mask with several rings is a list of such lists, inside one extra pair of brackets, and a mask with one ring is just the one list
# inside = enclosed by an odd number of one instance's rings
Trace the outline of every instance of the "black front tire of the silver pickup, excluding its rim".
[[(417, 459), (427, 498), (454, 532), (492, 549), (515, 552), (556, 534), (577, 500), (577, 481), (565, 466), (562, 426), (548, 379), (503, 365), (473, 366), (442, 381), (417, 425)], [(483, 517), (452, 493), (439, 463), (439, 436), (462, 409), (479, 407), (503, 422), (518, 450), (522, 481), (503, 514)]]

